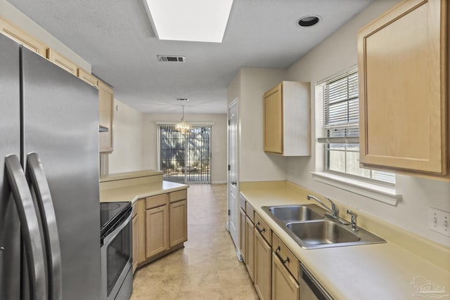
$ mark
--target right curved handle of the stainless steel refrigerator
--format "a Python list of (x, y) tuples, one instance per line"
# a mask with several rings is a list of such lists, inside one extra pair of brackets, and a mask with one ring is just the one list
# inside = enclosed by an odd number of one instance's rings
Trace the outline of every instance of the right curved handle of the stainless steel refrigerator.
[(63, 278), (61, 250), (56, 224), (56, 213), (51, 199), (49, 183), (44, 173), (39, 155), (31, 152), (27, 155), (27, 178), (30, 180), (41, 214), (42, 228), (47, 256), (47, 271), (49, 272), (49, 299), (63, 299)]

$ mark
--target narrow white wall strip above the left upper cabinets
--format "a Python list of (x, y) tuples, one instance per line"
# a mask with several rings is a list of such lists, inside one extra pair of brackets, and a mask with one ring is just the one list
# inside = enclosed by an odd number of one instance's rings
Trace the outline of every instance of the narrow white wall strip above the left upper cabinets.
[(44, 28), (40, 27), (6, 0), (0, 0), (0, 16), (58, 53), (61, 53), (69, 60), (72, 60), (73, 63), (87, 72), (91, 72), (91, 65), (86, 60), (78, 56), (77, 53), (70, 50), (68, 46), (65, 46), (65, 44), (61, 43), (56, 37), (53, 37), (53, 35), (49, 34)]

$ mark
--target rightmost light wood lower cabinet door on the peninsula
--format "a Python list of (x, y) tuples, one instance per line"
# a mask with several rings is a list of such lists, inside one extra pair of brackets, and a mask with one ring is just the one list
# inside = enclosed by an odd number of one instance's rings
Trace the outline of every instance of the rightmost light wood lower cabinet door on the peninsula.
[(170, 205), (170, 247), (188, 240), (188, 202), (181, 200)]

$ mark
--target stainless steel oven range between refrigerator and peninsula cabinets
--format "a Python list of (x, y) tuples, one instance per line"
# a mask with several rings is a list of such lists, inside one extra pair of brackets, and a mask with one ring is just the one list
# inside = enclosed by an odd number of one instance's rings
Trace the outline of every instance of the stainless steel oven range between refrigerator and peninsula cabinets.
[(101, 203), (102, 300), (129, 300), (131, 296), (132, 211), (130, 202)]

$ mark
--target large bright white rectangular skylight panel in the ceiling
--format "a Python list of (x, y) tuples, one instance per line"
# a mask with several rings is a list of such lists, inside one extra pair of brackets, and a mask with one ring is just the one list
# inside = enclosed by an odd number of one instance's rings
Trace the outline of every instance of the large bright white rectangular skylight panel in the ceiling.
[(207, 41), (224, 39), (233, 0), (143, 0), (159, 39)]

